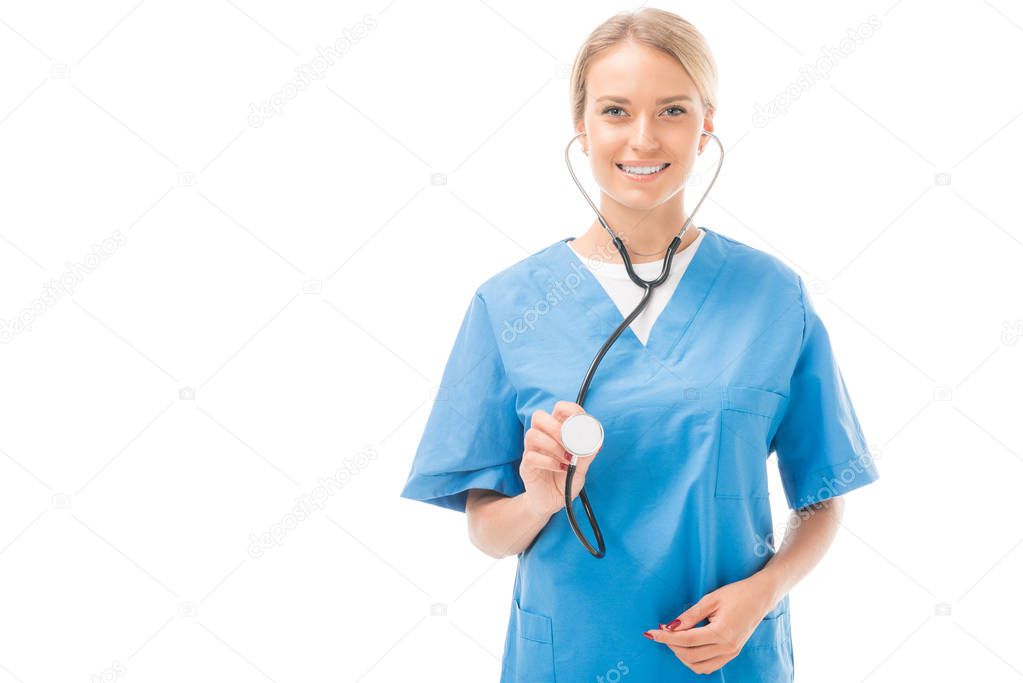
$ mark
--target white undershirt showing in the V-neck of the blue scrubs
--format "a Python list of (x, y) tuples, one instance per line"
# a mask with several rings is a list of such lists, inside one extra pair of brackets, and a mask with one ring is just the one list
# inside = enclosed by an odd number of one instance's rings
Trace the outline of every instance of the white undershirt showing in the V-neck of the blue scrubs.
[[(629, 325), (643, 346), (647, 346), (647, 339), (650, 338), (650, 330), (654, 327), (657, 317), (661, 315), (661, 311), (671, 301), (671, 295), (674, 293), (675, 287), (678, 286), (678, 281), (682, 279), (682, 274), (685, 273), (686, 267), (693, 261), (693, 255), (697, 253), (700, 242), (703, 241), (705, 232), (702, 228), (698, 228), (698, 230), (699, 234), (693, 240), (693, 243), (681, 252), (678, 252), (675, 258), (671, 260), (671, 273), (668, 275), (668, 279), (664, 281), (664, 284), (654, 289), (647, 308)], [(624, 319), (639, 304), (639, 300), (642, 299), (642, 289), (629, 279), (629, 275), (625, 270), (625, 264), (587, 259), (579, 254), (579, 252), (576, 252), (575, 246), (572, 245), (573, 241), (575, 240), (570, 239), (567, 242), (568, 245), (572, 247), (572, 251), (582, 260), (586, 268), (596, 278), (596, 281), (608, 292), (608, 295), (615, 303), (615, 306), (618, 307)], [(661, 258), (650, 263), (632, 264), (632, 268), (635, 270), (636, 275), (642, 279), (653, 280), (661, 274), (663, 265), (664, 260)]]

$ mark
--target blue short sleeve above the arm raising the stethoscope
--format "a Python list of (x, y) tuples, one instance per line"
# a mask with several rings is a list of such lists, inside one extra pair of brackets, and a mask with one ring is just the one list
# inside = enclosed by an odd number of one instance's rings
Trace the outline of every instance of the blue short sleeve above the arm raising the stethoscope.
[(465, 511), (470, 489), (517, 496), (525, 491), (519, 475), (523, 437), (516, 392), (487, 305), (477, 292), (444, 367), (401, 496), (459, 512)]

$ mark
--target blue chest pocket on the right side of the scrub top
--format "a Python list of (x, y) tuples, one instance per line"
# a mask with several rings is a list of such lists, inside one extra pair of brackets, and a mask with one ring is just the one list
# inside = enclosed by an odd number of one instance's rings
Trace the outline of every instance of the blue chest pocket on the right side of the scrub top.
[(762, 389), (722, 388), (715, 496), (767, 497), (769, 440), (787, 401)]

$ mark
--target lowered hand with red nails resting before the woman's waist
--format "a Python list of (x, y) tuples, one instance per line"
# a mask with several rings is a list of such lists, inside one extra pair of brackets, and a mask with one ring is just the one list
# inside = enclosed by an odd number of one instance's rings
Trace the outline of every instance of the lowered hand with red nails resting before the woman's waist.
[[(709, 674), (739, 654), (773, 606), (772, 592), (754, 575), (708, 593), (674, 622), (644, 635), (670, 647), (694, 673)], [(710, 623), (694, 628), (704, 619)]]

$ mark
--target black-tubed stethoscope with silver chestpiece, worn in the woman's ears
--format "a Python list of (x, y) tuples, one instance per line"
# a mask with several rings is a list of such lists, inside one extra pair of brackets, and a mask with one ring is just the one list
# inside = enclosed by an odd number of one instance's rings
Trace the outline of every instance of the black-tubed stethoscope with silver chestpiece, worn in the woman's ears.
[[(601, 211), (593, 203), (593, 200), (589, 198), (589, 194), (583, 189), (583, 186), (579, 183), (579, 179), (575, 175), (575, 171), (572, 169), (572, 161), (569, 158), (569, 150), (572, 148), (572, 143), (575, 142), (576, 138), (585, 135), (585, 133), (579, 133), (572, 136), (569, 140), (568, 145), (565, 147), (565, 163), (569, 167), (569, 173), (572, 174), (572, 180), (575, 181), (576, 187), (582, 192), (582, 195), (586, 198), (586, 202), (589, 203), (590, 209), (596, 214), (596, 219), (604, 226), (604, 229), (608, 232), (611, 237), (612, 243), (618, 253), (622, 257), (622, 261), (625, 263), (625, 270), (629, 274), (629, 279), (635, 282), (638, 286), (643, 288), (642, 299), (639, 300), (639, 304), (636, 306), (635, 310), (632, 311), (622, 323), (611, 333), (608, 340), (604, 343), (601, 350), (596, 353), (596, 357), (593, 358), (593, 362), (590, 363), (589, 369), (586, 371), (586, 376), (582, 381), (582, 386), (579, 388), (579, 396), (576, 398), (576, 403), (582, 406), (582, 402), (586, 399), (586, 394), (589, 392), (589, 384), (593, 380), (593, 373), (596, 372), (597, 365), (604, 359), (604, 356), (611, 349), (611, 346), (616, 339), (621, 335), (625, 329), (632, 324), (636, 316), (639, 315), (642, 310), (647, 307), (650, 302), (651, 294), (654, 293), (654, 288), (661, 285), (666, 279), (668, 279), (668, 274), (671, 272), (671, 262), (675, 256), (675, 249), (682, 242), (682, 235), (688, 229), (690, 225), (693, 223), (693, 217), (696, 216), (697, 212), (700, 211), (700, 206), (707, 198), (707, 194), (710, 192), (711, 188), (714, 187), (714, 181), (717, 180), (717, 174), (721, 172), (721, 163), (724, 161), (724, 146), (721, 141), (717, 139), (717, 136), (713, 133), (707, 131), (702, 131), (704, 135), (710, 136), (714, 142), (717, 143), (718, 149), (720, 150), (720, 156), (717, 161), (717, 168), (714, 170), (714, 176), (710, 179), (710, 184), (707, 185), (707, 189), (704, 191), (703, 196), (700, 197), (700, 201), (697, 202), (696, 208), (690, 217), (685, 220), (685, 225), (682, 229), (678, 231), (674, 239), (668, 245), (668, 253), (664, 257), (664, 265), (661, 268), (661, 274), (654, 280), (647, 281), (636, 275), (635, 270), (632, 269), (632, 260), (629, 259), (628, 249), (625, 248), (624, 242), (621, 238), (615, 234), (615, 231), (611, 229), (608, 222), (604, 219)], [(650, 256), (650, 255), (641, 255)], [(586, 497), (586, 491), (579, 491), (579, 499), (582, 501), (582, 507), (586, 511), (586, 517), (589, 519), (589, 526), (593, 530), (593, 536), (596, 538), (597, 547), (594, 549), (590, 545), (586, 537), (583, 536), (582, 530), (579, 529), (579, 522), (576, 521), (575, 511), (572, 509), (572, 480), (575, 476), (576, 464), (579, 458), (585, 458), (595, 455), (601, 447), (604, 445), (604, 426), (601, 422), (590, 415), (589, 413), (579, 413), (578, 415), (573, 415), (565, 420), (562, 424), (562, 444), (565, 446), (565, 450), (572, 455), (572, 460), (569, 463), (568, 472), (565, 476), (565, 510), (569, 516), (569, 523), (572, 526), (572, 531), (575, 532), (576, 538), (579, 542), (596, 558), (604, 557), (605, 546), (604, 546), (604, 535), (601, 534), (601, 527), (596, 523), (596, 517), (593, 516), (593, 508), (589, 505), (589, 499)], [(585, 489), (585, 487), (583, 487)]]

